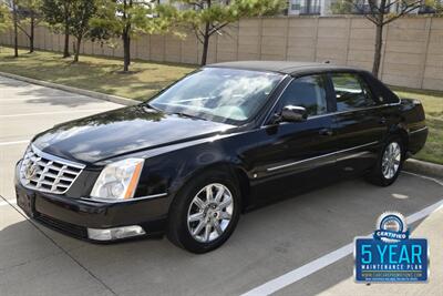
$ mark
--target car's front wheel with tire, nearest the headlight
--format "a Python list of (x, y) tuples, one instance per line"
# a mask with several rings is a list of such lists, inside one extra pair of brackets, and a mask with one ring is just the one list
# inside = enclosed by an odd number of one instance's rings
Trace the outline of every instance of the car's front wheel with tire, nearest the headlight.
[(223, 245), (239, 218), (240, 194), (235, 180), (224, 172), (207, 172), (179, 192), (169, 212), (167, 236), (193, 253)]

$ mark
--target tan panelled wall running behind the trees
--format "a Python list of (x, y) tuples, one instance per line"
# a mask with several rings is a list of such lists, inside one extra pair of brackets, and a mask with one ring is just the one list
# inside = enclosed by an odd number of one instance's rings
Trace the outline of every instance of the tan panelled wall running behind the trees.
[[(19, 38), (27, 47), (27, 39)], [(12, 44), (12, 34), (0, 35)], [(38, 28), (38, 49), (61, 51), (63, 37)], [(122, 47), (109, 48), (87, 41), (83, 53), (122, 57)], [(172, 35), (142, 35), (134, 40), (132, 57), (161, 62), (195, 63), (202, 45), (193, 33), (181, 40)], [(276, 17), (244, 19), (214, 35), (208, 63), (236, 60), (317, 61), (371, 70), (374, 27), (361, 17)], [(384, 30), (380, 78), (393, 85), (443, 90), (443, 18), (408, 17)]]

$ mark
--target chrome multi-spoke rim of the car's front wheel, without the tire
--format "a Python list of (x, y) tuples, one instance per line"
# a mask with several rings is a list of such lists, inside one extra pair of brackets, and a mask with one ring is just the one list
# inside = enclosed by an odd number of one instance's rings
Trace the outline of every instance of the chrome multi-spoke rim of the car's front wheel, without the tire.
[(230, 191), (223, 184), (212, 183), (202, 188), (187, 211), (187, 228), (200, 243), (217, 239), (228, 227), (234, 213)]

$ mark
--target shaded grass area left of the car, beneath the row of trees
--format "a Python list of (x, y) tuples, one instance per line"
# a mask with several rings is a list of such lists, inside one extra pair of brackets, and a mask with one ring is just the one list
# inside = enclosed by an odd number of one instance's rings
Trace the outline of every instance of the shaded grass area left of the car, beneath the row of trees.
[(61, 53), (21, 50), (14, 59), (11, 48), (0, 48), (0, 71), (140, 101), (194, 71), (195, 65), (135, 60), (130, 73), (122, 69), (122, 59), (81, 55), (74, 64)]

